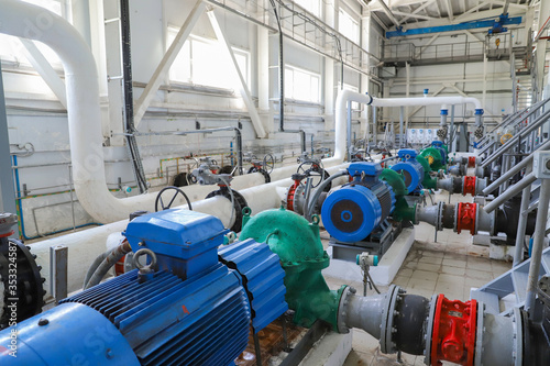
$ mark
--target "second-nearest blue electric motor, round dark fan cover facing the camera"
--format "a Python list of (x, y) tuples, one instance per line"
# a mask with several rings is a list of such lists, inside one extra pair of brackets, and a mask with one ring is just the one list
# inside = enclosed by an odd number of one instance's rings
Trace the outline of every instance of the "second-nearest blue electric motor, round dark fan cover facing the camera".
[(394, 211), (395, 195), (378, 179), (377, 163), (353, 163), (348, 171), (353, 181), (327, 196), (321, 218), (324, 229), (336, 240), (355, 243), (366, 239)]

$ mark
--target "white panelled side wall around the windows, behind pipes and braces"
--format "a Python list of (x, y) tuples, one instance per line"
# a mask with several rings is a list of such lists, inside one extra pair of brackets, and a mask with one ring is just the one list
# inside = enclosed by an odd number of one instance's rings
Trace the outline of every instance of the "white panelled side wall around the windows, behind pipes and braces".
[[(110, 0), (103, 1), (106, 11), (111, 14), (113, 3)], [(145, 84), (150, 80), (167, 48), (167, 26), (180, 26), (191, 11), (194, 3), (195, 1), (180, 0), (132, 0), (130, 2), (132, 74), (135, 100), (142, 93)], [(338, 11), (338, 3), (337, 1), (336, 11)], [(351, 10), (354, 11), (353, 13), (361, 13), (362, 10), (356, 2), (352, 2), (352, 4), (353, 9)], [(231, 45), (251, 53), (249, 89), (252, 98), (257, 100), (256, 25), (222, 9), (218, 9), (216, 12), (220, 26)], [(333, 16), (332, 14), (328, 15), (329, 18)], [(110, 15), (99, 16), (101, 21), (103, 18), (110, 18)], [(338, 18), (338, 13), (336, 18)], [(116, 53), (119, 49), (116, 44), (106, 48), (105, 40), (99, 37), (103, 33), (97, 31), (98, 26), (101, 30), (105, 27), (102, 22), (92, 24), (90, 32), (92, 43), (98, 44), (100, 47), (99, 51), (96, 49), (98, 55), (100, 52), (107, 53), (107, 59), (102, 59), (102, 63), (106, 62), (108, 66), (111, 63), (112, 66), (112, 63), (118, 63)], [(118, 37), (118, 31), (112, 31), (116, 26), (117, 24), (111, 24), (105, 27), (105, 36), (112, 37), (116, 34)], [(205, 38), (215, 38), (215, 33), (206, 14), (201, 16), (193, 34)], [(170, 86), (168, 80), (164, 80), (161, 90), (155, 95), (152, 107), (150, 107), (139, 126), (141, 133), (150, 133), (150, 135), (139, 136), (138, 143), (152, 189), (158, 189), (172, 184), (172, 179), (176, 174), (177, 160), (162, 162), (163, 159), (190, 154), (228, 154), (230, 152), (230, 144), (233, 141), (232, 132), (188, 136), (169, 134), (169, 132), (174, 131), (195, 130), (196, 121), (200, 122), (201, 129), (238, 126), (241, 123), (244, 152), (251, 151), (258, 157), (263, 157), (265, 153), (274, 153), (295, 160), (296, 156), (299, 155), (299, 135), (276, 132), (278, 129), (278, 119), (276, 118), (278, 114), (278, 35), (271, 33), (268, 42), (271, 107), (268, 123), (271, 124), (270, 130), (274, 131), (270, 134), (270, 138), (257, 140), (255, 137), (246, 108), (239, 93), (198, 86)], [(99, 57), (98, 55), (96, 56)], [(288, 64), (320, 74), (323, 78), (326, 77), (324, 65), (327, 59), (324, 56), (288, 38), (285, 40), (285, 59)], [(25, 234), (26, 236), (36, 236), (65, 230), (72, 228), (73, 224), (91, 223), (91, 218), (84, 212), (74, 195), (73, 200), (75, 202), (72, 202), (69, 191), (70, 147), (68, 144), (66, 111), (32, 67), (24, 59), (21, 62), (4, 62), (2, 68), (7, 93), (10, 143), (31, 143), (34, 145), (32, 156), (18, 157), (20, 191), (23, 190), (23, 185), (26, 185), (25, 193), (28, 197), (21, 199)], [(227, 67), (228, 65), (223, 66)], [(61, 67), (57, 67), (57, 71), (63, 77)], [(102, 76), (107, 77), (106, 75)], [(109, 76), (117, 77), (118, 75)], [(340, 78), (339, 63), (334, 63), (334, 77), (333, 85), (337, 85)], [(346, 84), (359, 87), (360, 79), (358, 71), (345, 70), (344, 80)], [(105, 79), (101, 81), (105, 82)], [(109, 82), (116, 85), (120, 84), (120, 80), (113, 79)], [(321, 85), (324, 88), (326, 84), (321, 82)], [(113, 92), (117, 88), (110, 88), (109, 90), (111, 95), (102, 99), (106, 115), (109, 115), (107, 112), (108, 107), (114, 108), (113, 106), (118, 106), (117, 102), (120, 102), (123, 98), (120, 93)], [(324, 95), (324, 90), (322, 90), (321, 96)], [(337, 92), (334, 92), (334, 98), (336, 95)], [(332, 106), (333, 102), (333, 99), (324, 100), (323, 98), (318, 104), (287, 101), (285, 127), (287, 130), (304, 129), (307, 132), (308, 151), (311, 136), (314, 136), (316, 147), (332, 147), (333, 132), (330, 127), (326, 129), (327, 124), (333, 123), (332, 115), (327, 117), (324, 110), (327, 104)], [(119, 107), (114, 108), (110, 112), (111, 119), (113, 115), (120, 117), (122, 112)], [(330, 120), (326, 121), (327, 118)], [(359, 118), (358, 113), (355, 118)], [(107, 181), (112, 190), (118, 190), (119, 179), (122, 186), (135, 186), (132, 167), (124, 147), (125, 142), (123, 136), (120, 135), (120, 131), (122, 131), (120, 121), (120, 119), (119, 121), (109, 121), (109, 118), (106, 118), (103, 127)], [(354, 124), (354, 131), (360, 131), (359, 124)], [(162, 135), (158, 133), (168, 134)], [(12, 146), (12, 152), (19, 152), (16, 146)], [(217, 158), (220, 160), (219, 156)], [(185, 169), (185, 162), (179, 164), (179, 169)], [(223, 164), (228, 164), (227, 157)], [(166, 171), (167, 167), (168, 174)], [(125, 195), (121, 191), (113, 191), (113, 193), (117, 196)], [(138, 192), (134, 189), (130, 195), (135, 193)]]

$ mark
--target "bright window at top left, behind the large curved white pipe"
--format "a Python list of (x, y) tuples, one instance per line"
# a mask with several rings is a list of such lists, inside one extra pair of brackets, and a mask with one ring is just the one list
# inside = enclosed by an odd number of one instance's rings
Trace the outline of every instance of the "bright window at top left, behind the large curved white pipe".
[[(65, 14), (66, 8), (64, 0), (23, 0), (23, 1), (47, 9), (65, 18), (66, 15)], [(50, 22), (52, 22), (50, 15), (47, 13), (44, 13), (44, 15), (41, 16), (40, 19), (33, 20), (32, 22), (33, 27), (31, 29), (31, 25), (29, 25), (30, 31), (40, 32), (41, 29), (48, 26)], [(62, 62), (59, 57), (52, 48), (50, 48), (48, 46), (46, 46), (41, 42), (35, 42), (35, 45), (42, 52), (44, 57), (50, 62), (50, 64), (52, 64), (52, 66), (54, 66), (55, 68), (62, 67)], [(6, 34), (0, 34), (0, 58), (4, 62), (23, 64), (25, 66), (30, 65), (29, 60), (25, 57), (23, 44), (16, 37), (9, 36)]]

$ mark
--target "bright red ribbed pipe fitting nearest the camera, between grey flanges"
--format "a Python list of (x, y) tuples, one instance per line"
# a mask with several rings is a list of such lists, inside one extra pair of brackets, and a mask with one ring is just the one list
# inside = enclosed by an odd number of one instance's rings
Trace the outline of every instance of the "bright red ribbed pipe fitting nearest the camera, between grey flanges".
[(464, 366), (473, 365), (477, 302), (452, 301), (440, 293), (436, 298), (433, 311), (432, 330), (428, 330), (428, 334), (431, 333), (428, 364), (440, 366), (442, 361), (448, 361)]

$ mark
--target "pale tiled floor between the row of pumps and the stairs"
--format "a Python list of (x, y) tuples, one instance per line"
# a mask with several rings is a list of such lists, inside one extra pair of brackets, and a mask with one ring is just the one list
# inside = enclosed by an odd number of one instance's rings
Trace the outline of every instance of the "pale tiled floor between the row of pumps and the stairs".
[[(447, 200), (448, 196), (441, 195), (436, 199)], [(471, 198), (453, 195), (452, 201), (455, 200), (471, 201)], [(405, 288), (408, 293), (427, 298), (444, 293), (449, 299), (465, 301), (470, 299), (472, 287), (484, 285), (510, 267), (510, 263), (488, 259), (488, 247), (472, 245), (469, 233), (459, 235), (452, 230), (444, 230), (438, 232), (438, 241), (435, 242), (433, 228), (421, 223), (417, 225), (415, 244), (393, 284)], [(332, 289), (342, 285), (342, 280), (337, 278), (327, 278), (327, 281)], [(363, 288), (362, 282), (349, 285), (359, 291)], [(380, 290), (385, 291), (387, 287)], [(424, 356), (403, 354), (399, 363), (397, 355), (380, 352), (377, 340), (362, 330), (354, 330), (353, 350), (344, 365), (424, 365)]]

